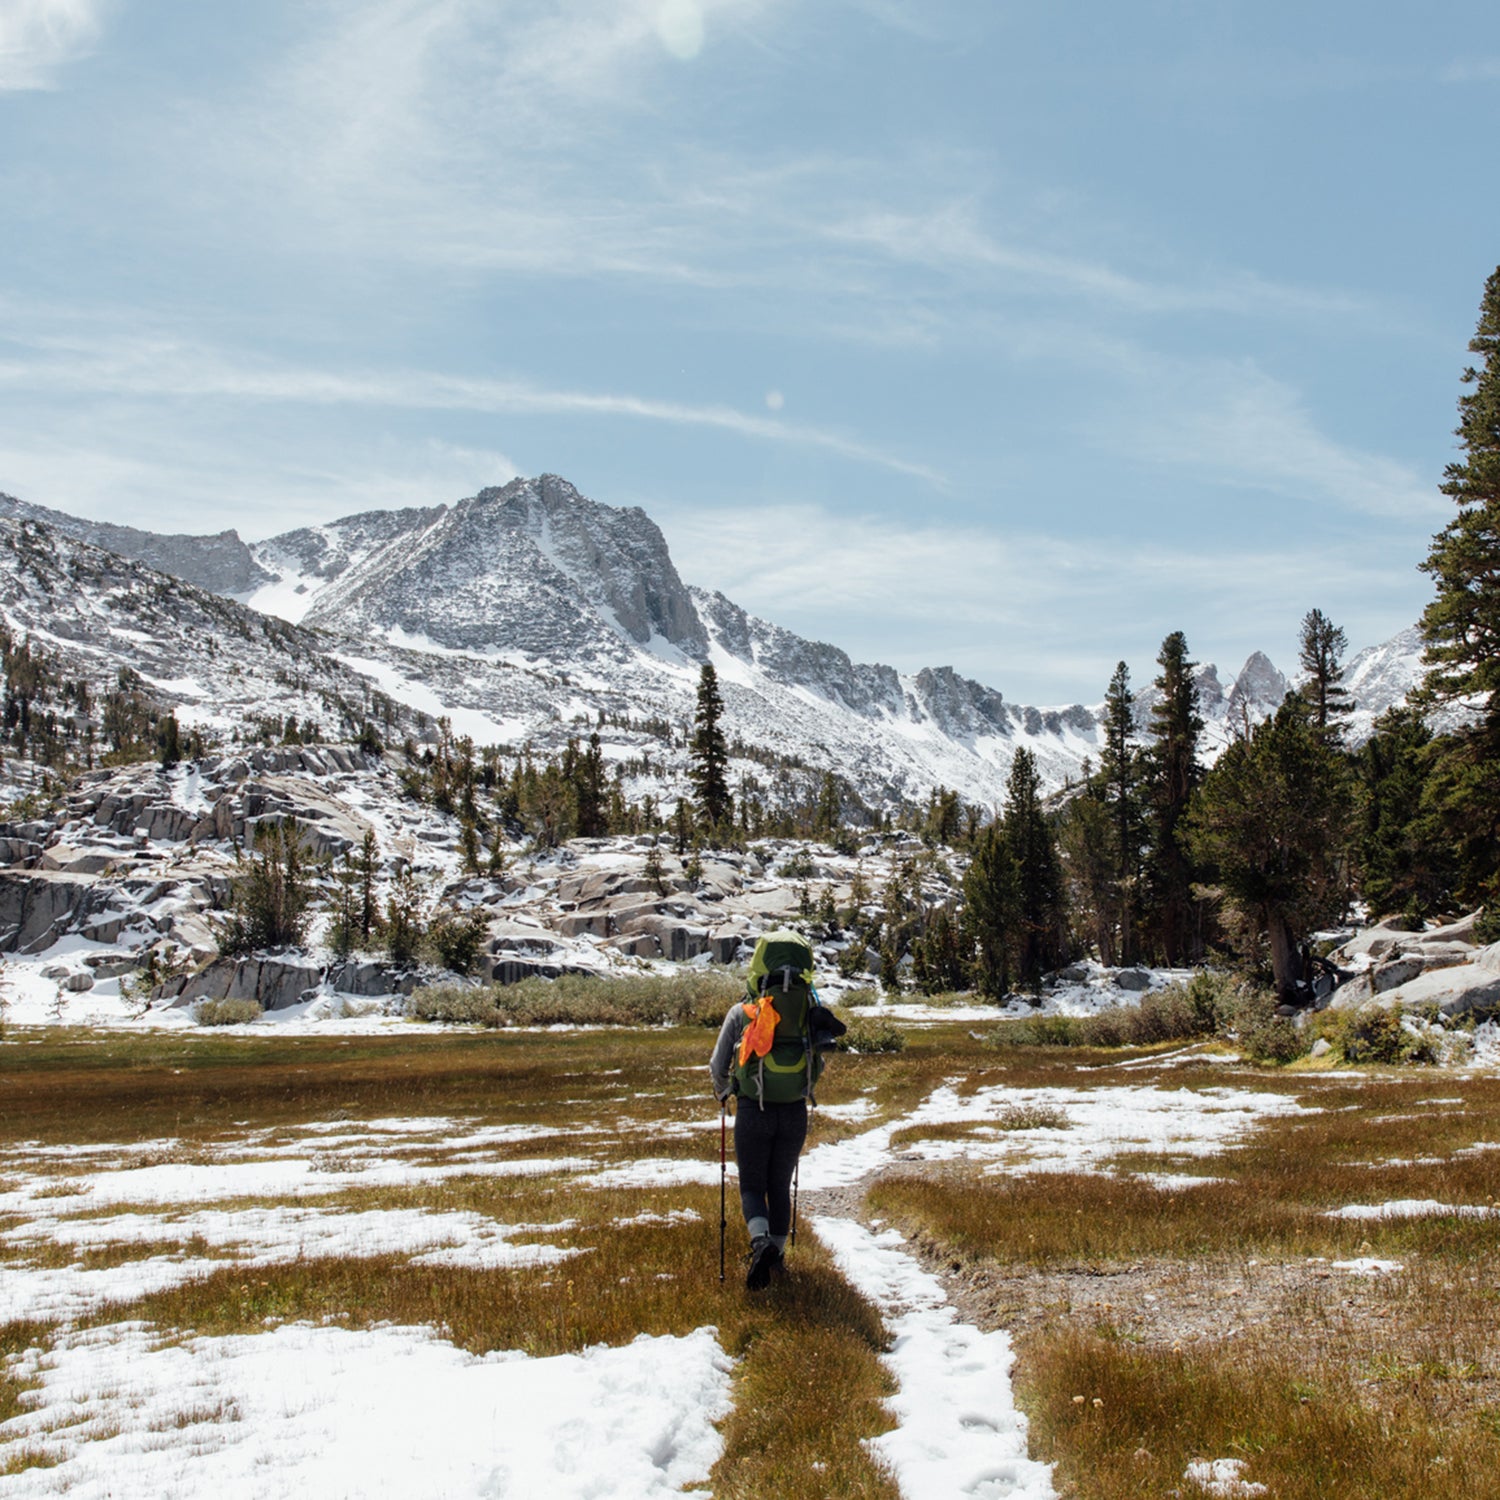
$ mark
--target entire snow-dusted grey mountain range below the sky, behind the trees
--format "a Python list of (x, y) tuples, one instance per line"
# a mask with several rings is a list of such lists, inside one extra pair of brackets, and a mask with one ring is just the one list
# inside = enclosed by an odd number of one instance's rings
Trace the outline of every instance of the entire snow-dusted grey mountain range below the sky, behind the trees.
[[(555, 750), (597, 729), (608, 759), (651, 765), (633, 770), (632, 790), (662, 795), (686, 786), (684, 730), (712, 662), (742, 750), (735, 774), (772, 801), (808, 795), (831, 770), (876, 806), (938, 784), (993, 806), (1020, 746), (1048, 786), (1100, 753), (1096, 708), (1010, 704), (951, 668), (858, 664), (686, 585), (644, 510), (597, 504), (550, 474), (258, 543), (159, 536), (4, 495), (0, 518), (14, 633), (66, 648), (94, 676), (138, 670), (182, 720), (219, 730), (294, 712), (342, 734), (388, 694), (416, 732), (447, 716), (480, 744)], [(27, 570), (38, 550), (52, 556), (51, 588)], [(69, 568), (87, 574), (70, 591)], [(1414, 686), (1419, 656), (1407, 630), (1352, 658), (1356, 738)], [(1274, 711), (1287, 686), (1262, 652), (1227, 681), (1202, 666), (1206, 752)], [(1149, 704), (1146, 687), (1143, 720)]]

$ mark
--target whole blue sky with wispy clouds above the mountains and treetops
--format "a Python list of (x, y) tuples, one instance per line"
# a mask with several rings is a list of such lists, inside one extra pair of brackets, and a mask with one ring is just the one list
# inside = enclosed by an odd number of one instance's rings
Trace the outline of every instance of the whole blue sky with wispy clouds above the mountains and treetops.
[(1412, 624), (1500, 9), (0, 0), (0, 489), (248, 538), (558, 472), (1022, 702)]

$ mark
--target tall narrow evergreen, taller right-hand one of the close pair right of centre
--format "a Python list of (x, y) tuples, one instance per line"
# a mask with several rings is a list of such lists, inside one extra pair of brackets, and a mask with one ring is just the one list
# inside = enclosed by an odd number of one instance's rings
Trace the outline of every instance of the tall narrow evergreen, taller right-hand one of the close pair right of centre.
[(1150, 858), (1146, 872), (1150, 930), (1155, 948), (1168, 964), (1203, 957), (1202, 903), (1192, 896), (1192, 856), (1182, 819), (1203, 778), (1198, 765), (1197, 663), (1188, 660), (1188, 642), (1173, 630), (1156, 656), (1156, 702), (1150, 710), (1149, 802)]

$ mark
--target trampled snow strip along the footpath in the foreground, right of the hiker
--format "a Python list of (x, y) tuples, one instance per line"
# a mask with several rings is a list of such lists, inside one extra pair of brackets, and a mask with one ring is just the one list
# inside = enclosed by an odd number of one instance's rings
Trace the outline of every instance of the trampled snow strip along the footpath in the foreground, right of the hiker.
[(896, 1230), (872, 1233), (844, 1218), (818, 1218), (816, 1230), (891, 1332), (882, 1358), (897, 1383), (886, 1402), (897, 1426), (868, 1443), (906, 1500), (1050, 1500), (1052, 1468), (1028, 1458), (1026, 1418), (1011, 1395), (1010, 1335), (960, 1323)]

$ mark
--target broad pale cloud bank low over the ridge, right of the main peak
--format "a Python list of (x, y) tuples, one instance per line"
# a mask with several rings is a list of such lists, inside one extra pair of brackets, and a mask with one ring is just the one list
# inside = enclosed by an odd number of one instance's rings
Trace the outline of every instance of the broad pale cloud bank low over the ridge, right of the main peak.
[[(1358, 542), (1336, 561), (1256, 546), (1227, 558), (1212, 542), (1166, 548), (1130, 536), (902, 525), (816, 504), (654, 506), (652, 516), (688, 582), (736, 598), (744, 558), (764, 556), (754, 597), (738, 598), (753, 614), (834, 640), (855, 660), (954, 666), (1020, 702), (1096, 702), (1120, 658), (1144, 686), (1173, 630), (1227, 672), (1257, 650), (1286, 669), (1314, 604), (1365, 645), (1390, 633), (1394, 596), (1414, 620), (1424, 592), (1414, 573), (1394, 588), (1378, 544)], [(765, 556), (766, 536), (796, 537), (796, 552)]]

